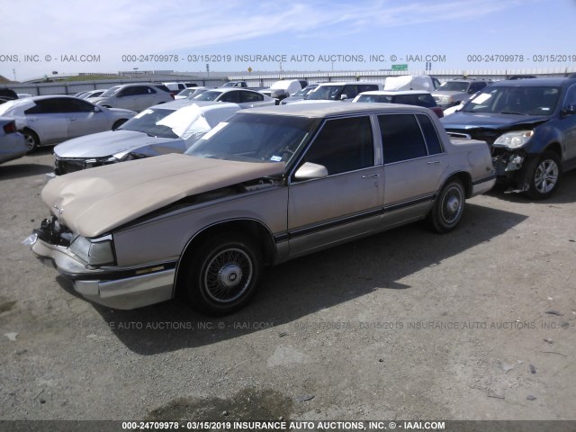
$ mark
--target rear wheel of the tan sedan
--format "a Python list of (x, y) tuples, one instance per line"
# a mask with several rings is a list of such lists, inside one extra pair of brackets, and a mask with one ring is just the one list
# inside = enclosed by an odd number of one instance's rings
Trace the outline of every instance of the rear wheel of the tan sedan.
[(460, 180), (449, 180), (434, 202), (434, 207), (428, 215), (428, 224), (431, 229), (439, 233), (452, 231), (458, 226), (464, 213), (466, 193)]

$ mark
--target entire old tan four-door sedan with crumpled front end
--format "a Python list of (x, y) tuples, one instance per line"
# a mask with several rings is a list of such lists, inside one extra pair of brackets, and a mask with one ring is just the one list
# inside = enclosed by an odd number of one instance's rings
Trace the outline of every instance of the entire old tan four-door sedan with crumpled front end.
[(452, 142), (427, 108), (291, 103), (239, 111), (184, 155), (56, 177), (25, 243), (107, 307), (178, 295), (221, 315), (264, 265), (415, 220), (450, 231), (493, 183), (486, 143)]

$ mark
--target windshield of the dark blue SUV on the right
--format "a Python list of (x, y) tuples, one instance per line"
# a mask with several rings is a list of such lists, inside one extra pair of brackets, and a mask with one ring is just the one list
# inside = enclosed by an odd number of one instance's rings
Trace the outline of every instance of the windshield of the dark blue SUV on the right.
[(552, 115), (558, 104), (560, 87), (498, 86), (487, 87), (464, 105), (464, 112), (488, 112), (524, 115)]

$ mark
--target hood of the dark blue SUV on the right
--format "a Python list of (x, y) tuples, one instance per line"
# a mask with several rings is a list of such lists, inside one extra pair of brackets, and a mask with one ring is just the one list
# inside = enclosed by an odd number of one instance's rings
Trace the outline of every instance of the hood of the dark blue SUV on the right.
[(536, 123), (550, 120), (549, 117), (538, 115), (517, 115), (500, 113), (478, 112), (454, 112), (440, 119), (448, 130), (466, 129), (494, 129), (507, 130), (518, 129), (518, 126), (526, 124), (534, 126)]

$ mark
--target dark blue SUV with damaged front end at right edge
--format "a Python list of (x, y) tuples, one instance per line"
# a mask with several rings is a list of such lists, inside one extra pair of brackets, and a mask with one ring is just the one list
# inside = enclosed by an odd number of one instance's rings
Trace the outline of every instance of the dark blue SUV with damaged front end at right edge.
[(446, 130), (491, 147), (499, 180), (539, 200), (576, 167), (576, 78), (503, 80), (442, 119)]

